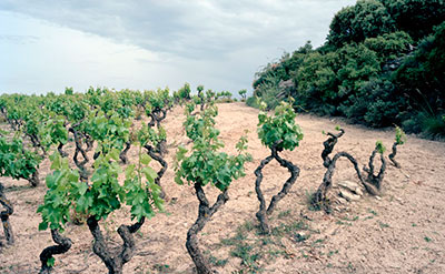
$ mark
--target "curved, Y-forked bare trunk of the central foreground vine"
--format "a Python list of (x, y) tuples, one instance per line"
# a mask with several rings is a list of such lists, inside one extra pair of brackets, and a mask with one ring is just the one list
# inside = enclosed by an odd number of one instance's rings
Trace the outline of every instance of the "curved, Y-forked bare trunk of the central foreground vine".
[(227, 194), (227, 190), (218, 195), (215, 204), (210, 206), (206, 193), (202, 190), (201, 183), (195, 183), (196, 196), (199, 201), (199, 211), (198, 219), (195, 224), (187, 232), (187, 242), (186, 247), (188, 253), (190, 254), (191, 260), (195, 263), (196, 271), (198, 274), (211, 274), (209, 262), (204, 257), (202, 252), (198, 246), (198, 233), (202, 231), (206, 223), (210, 220), (210, 217), (224, 205), (229, 196)]

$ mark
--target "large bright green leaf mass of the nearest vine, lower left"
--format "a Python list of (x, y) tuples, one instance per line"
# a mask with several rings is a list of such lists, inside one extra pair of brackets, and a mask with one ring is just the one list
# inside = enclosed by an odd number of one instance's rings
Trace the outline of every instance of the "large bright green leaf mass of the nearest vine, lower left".
[(162, 210), (160, 186), (155, 183), (157, 173), (149, 166), (151, 159), (139, 146), (138, 163), (125, 170), (125, 182), (118, 181), (122, 173), (119, 166), (119, 150), (100, 154), (93, 163), (90, 183), (79, 180), (79, 172), (71, 169), (68, 159), (58, 152), (50, 156), (52, 174), (47, 176), (48, 192), (38, 209), (42, 215), (39, 230), (63, 230), (70, 221), (70, 211), (106, 219), (111, 212), (130, 206), (131, 217), (151, 217), (155, 209)]

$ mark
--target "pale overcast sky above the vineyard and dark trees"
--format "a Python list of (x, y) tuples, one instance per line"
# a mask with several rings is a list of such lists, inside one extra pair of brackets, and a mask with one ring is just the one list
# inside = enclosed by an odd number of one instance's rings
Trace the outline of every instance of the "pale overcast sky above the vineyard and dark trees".
[(1, 0), (0, 93), (65, 87), (251, 90), (355, 0)]

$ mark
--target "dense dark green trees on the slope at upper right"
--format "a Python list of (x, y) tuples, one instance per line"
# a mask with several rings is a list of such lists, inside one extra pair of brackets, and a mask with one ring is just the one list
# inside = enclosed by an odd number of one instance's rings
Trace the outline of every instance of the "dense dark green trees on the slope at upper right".
[(445, 136), (445, 1), (360, 0), (337, 12), (326, 42), (285, 53), (256, 73), (254, 97), (274, 109), (340, 115)]

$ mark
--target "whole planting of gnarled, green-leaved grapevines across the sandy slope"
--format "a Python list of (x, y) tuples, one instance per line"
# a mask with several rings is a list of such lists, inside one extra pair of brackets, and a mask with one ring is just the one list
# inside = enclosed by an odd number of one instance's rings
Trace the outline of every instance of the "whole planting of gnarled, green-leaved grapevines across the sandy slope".
[[(198, 87), (197, 95), (192, 95), (187, 84), (172, 94), (168, 89), (139, 92), (91, 88), (86, 93), (73, 93), (67, 89), (61, 95), (0, 97), (0, 115), (7, 124), (0, 132), (0, 175), (24, 179), (32, 186), (39, 186), (39, 165), (47, 158), (51, 162), (51, 172), (46, 176), (47, 192), (37, 212), (42, 219), (38, 229), (49, 230), (55, 244), (41, 251), (40, 273), (50, 273), (55, 255), (71, 248), (72, 241), (63, 234), (69, 222), (86, 223), (95, 240), (93, 253), (109, 273), (122, 273), (123, 265), (134, 256), (135, 233), (157, 212), (164, 211), (168, 193), (162, 189), (161, 177), (168, 169), (164, 159), (168, 149), (162, 120), (175, 104), (185, 109), (184, 126), (191, 143), (190, 149), (177, 148), (175, 181), (192, 184), (199, 201), (198, 217), (187, 233), (186, 247), (198, 273), (212, 273), (199, 247), (198, 234), (229, 200), (231, 182), (245, 175), (245, 163), (251, 161), (246, 136), (240, 136), (236, 144), (237, 154), (220, 152), (224, 143), (219, 140), (219, 130), (215, 128), (218, 114), (216, 97), (210, 90), (205, 92), (204, 87)], [(291, 104), (283, 102), (273, 114), (265, 109), (263, 104), (258, 114), (258, 138), (270, 150), (270, 155), (255, 170), (255, 190), (259, 201), (256, 214), (259, 227), (264, 234), (269, 234), (268, 216), (299, 175), (299, 168), (279, 153), (298, 146), (303, 132), (296, 123)], [(338, 134), (326, 133), (328, 140), (322, 153), (326, 174), (312, 197), (313, 206), (327, 213), (330, 207), (326, 195), (333, 185), (332, 177), (339, 158), (350, 161), (364, 189), (372, 195), (379, 193), (386, 169), (385, 148), (380, 142), (376, 143), (369, 163), (363, 170), (347, 152), (338, 152), (330, 158), (334, 145), (345, 133), (343, 129), (337, 130)], [(73, 150), (67, 149), (69, 142), (73, 143)], [(405, 135), (397, 128), (389, 155), (397, 168), (396, 148), (404, 142)], [(136, 159), (127, 156), (130, 148), (137, 151)], [(374, 160), (377, 155), (382, 164), (375, 174)], [(286, 168), (290, 177), (267, 204), (261, 191), (261, 171), (273, 160)], [(151, 161), (158, 162), (161, 168), (155, 170)], [(220, 191), (214, 204), (206, 196), (204, 186), (207, 184)], [(4, 207), (1, 212), (4, 237), (12, 245), (13, 229), (9, 219), (13, 215), (13, 205), (1, 183), (0, 203)], [(117, 232), (122, 244), (119, 248), (111, 248), (102, 235), (101, 222), (122, 206), (130, 210), (132, 223), (120, 224)]]

